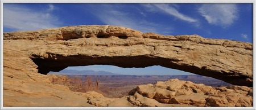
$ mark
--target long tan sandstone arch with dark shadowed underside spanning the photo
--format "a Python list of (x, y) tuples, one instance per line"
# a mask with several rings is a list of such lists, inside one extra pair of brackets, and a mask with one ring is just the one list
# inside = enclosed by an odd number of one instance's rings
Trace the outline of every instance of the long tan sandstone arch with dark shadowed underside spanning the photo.
[(4, 46), (25, 54), (42, 74), (79, 65), (161, 65), (234, 85), (253, 86), (253, 45), (247, 42), (197, 35), (163, 36), (109, 25), (10, 32), (3, 36)]

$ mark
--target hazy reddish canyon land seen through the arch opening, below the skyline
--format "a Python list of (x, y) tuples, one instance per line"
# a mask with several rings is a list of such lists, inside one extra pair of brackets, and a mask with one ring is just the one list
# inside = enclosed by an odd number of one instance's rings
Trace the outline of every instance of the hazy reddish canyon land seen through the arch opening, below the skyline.
[[(51, 83), (65, 85), (69, 90), (75, 92), (86, 93), (86, 91), (96, 91), (108, 98), (122, 98), (129, 94), (138, 85), (146, 85), (148, 83), (156, 83), (158, 81), (168, 81), (171, 79), (179, 79), (192, 81), (194, 83), (203, 83), (207, 86), (222, 87), (231, 86), (221, 80), (216, 80), (211, 77), (199, 75), (74, 75), (68, 73), (48, 73), (47, 76)], [(90, 83), (88, 83), (88, 81)], [(95, 82), (95, 83), (94, 83)], [(97, 86), (96, 86), (97, 83)], [(88, 87), (91, 86), (91, 87)], [(90, 89), (92, 88), (92, 89)]]

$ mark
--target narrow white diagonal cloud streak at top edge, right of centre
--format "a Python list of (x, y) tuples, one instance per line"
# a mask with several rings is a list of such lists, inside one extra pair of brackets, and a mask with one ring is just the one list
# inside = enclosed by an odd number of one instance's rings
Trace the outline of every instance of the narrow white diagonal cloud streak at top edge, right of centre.
[(146, 4), (143, 5), (144, 7), (147, 8), (148, 11), (151, 12), (164, 12), (168, 15), (174, 16), (177, 19), (187, 21), (189, 23), (196, 22), (196, 19), (193, 19), (192, 17), (189, 17), (187, 15), (181, 14), (177, 8), (177, 5), (168, 5), (168, 4)]

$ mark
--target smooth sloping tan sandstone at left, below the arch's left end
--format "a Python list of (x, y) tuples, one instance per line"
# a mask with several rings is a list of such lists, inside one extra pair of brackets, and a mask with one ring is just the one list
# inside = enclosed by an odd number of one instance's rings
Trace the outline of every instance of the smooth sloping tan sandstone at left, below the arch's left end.
[(38, 73), (38, 66), (15, 47), (5, 43), (3, 50), (3, 107), (93, 106), (67, 86), (51, 84), (46, 75)]

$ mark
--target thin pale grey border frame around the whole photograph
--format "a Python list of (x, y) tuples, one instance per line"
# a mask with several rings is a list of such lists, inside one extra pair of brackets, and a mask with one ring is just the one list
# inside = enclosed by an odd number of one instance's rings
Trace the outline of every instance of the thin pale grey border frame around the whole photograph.
[[(253, 81), (253, 107), (3, 107), (3, 3), (253, 3), (253, 62), (255, 62), (255, 1), (254, 0), (1, 0), (0, 1), (1, 18), (1, 37), (0, 37), (0, 75), (1, 75), (1, 109), (255, 109), (255, 81)], [(255, 64), (253, 63), (253, 73)], [(255, 74), (253, 75), (255, 79)]]

